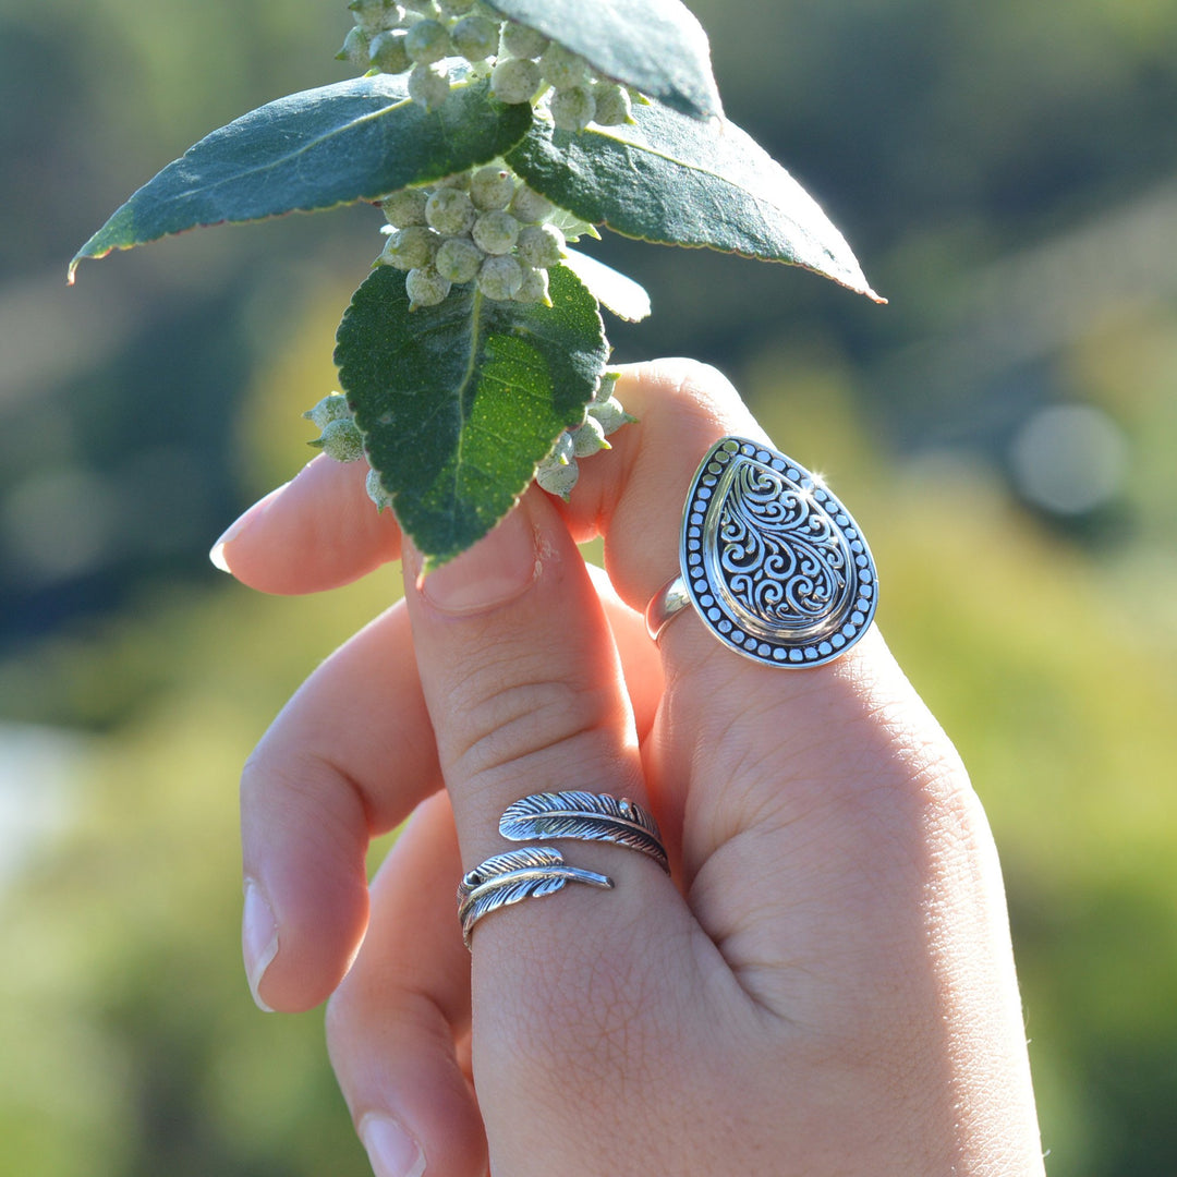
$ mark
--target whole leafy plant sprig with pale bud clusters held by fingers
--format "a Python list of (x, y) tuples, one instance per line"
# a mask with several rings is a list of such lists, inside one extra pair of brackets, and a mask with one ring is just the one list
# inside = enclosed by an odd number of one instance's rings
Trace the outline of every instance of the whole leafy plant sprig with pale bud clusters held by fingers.
[(348, 7), (341, 55), (364, 77), (195, 144), (81, 247), (69, 280), (82, 259), (199, 226), (380, 204), (388, 239), (337, 334), (346, 414), (331, 410), (337, 441), (325, 427), (319, 444), (367, 459), (372, 498), (427, 567), (537, 474), (566, 497), (578, 459), (629, 419), (600, 306), (636, 320), (649, 297), (568, 250), (581, 233), (798, 265), (879, 300), (818, 205), (723, 118), (679, 0)]

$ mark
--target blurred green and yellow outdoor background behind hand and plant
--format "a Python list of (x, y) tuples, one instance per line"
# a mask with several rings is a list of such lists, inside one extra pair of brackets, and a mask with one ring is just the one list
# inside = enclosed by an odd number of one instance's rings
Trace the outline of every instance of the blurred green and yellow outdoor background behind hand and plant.
[[(1177, 1172), (1177, 6), (696, 0), (731, 118), (885, 308), (610, 240), (853, 504), (1010, 890), (1053, 1177)], [(345, 77), (334, 0), (0, 0), (0, 1173), (364, 1173), (321, 1018), (239, 965), (240, 763), (395, 592), (206, 551), (291, 476), (368, 208), (74, 250), (207, 131)], [(605, 460), (605, 459), (598, 459)]]

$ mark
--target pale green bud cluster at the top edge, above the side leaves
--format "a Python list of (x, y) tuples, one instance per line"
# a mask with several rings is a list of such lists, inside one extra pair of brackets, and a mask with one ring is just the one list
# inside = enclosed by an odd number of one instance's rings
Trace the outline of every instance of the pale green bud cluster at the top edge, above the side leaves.
[(545, 107), (560, 131), (632, 122), (630, 93), (543, 33), (504, 20), (481, 0), (351, 0), (355, 20), (335, 54), (358, 69), (408, 73), (408, 95), (427, 111), (448, 97), (447, 61), (465, 58), (500, 102)]

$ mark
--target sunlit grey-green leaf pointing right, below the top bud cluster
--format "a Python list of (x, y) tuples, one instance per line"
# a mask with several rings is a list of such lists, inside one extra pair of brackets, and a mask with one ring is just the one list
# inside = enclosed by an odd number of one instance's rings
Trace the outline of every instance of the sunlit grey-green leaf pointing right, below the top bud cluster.
[(633, 118), (577, 134), (537, 121), (507, 162), (548, 200), (625, 237), (804, 266), (885, 301), (813, 198), (734, 124), (658, 102)]

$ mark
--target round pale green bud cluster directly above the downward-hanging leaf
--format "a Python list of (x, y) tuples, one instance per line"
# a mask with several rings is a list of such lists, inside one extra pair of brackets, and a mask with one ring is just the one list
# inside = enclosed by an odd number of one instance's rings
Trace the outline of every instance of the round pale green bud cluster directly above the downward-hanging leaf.
[(564, 258), (556, 206), (505, 166), (490, 164), (430, 188), (401, 188), (380, 207), (388, 240), (378, 265), (407, 271), (410, 308), (437, 306), (477, 282), (498, 301), (544, 302), (547, 271)]

